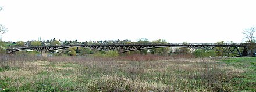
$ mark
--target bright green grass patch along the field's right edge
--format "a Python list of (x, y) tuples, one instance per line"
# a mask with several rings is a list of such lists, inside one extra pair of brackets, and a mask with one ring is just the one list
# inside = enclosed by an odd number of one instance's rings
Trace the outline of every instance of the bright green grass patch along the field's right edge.
[(225, 62), (227, 65), (232, 65), (245, 71), (241, 75), (238, 75), (239, 77), (232, 79), (231, 82), (236, 89), (256, 91), (256, 57), (225, 58), (218, 61)]

